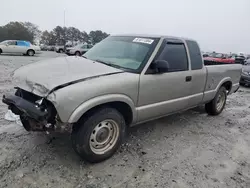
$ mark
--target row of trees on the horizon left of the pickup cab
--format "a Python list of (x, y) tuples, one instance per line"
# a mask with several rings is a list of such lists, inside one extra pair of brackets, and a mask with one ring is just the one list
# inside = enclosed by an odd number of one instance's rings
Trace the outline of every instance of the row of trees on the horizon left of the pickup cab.
[(0, 42), (4, 40), (26, 40), (31, 43), (39, 41), (44, 45), (64, 45), (66, 42), (86, 42), (96, 44), (109, 34), (101, 30), (80, 31), (75, 27), (56, 26), (51, 31), (41, 31), (30, 22), (10, 22), (0, 26)]

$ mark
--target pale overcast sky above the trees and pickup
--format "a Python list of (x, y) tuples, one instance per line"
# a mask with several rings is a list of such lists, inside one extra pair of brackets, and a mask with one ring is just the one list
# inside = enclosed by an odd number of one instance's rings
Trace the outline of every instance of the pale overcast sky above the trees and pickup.
[(188, 37), (204, 51), (250, 54), (250, 0), (1, 0), (0, 25), (29, 21), (110, 34)]

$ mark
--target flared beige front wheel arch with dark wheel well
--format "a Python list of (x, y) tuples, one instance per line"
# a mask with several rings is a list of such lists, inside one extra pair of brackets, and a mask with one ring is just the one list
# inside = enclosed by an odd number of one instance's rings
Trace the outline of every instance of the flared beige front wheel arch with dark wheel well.
[(85, 101), (74, 110), (68, 123), (76, 123), (81, 117), (93, 113), (93, 111), (103, 106), (109, 106), (118, 110), (123, 115), (127, 125), (136, 120), (135, 105), (132, 99), (125, 95), (112, 94)]

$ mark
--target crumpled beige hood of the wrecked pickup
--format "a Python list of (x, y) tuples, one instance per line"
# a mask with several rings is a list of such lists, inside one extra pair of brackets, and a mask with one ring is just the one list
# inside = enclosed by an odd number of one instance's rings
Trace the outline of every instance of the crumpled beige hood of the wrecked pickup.
[(119, 72), (122, 71), (83, 57), (60, 57), (17, 69), (14, 72), (14, 84), (36, 95), (46, 96), (63, 84)]

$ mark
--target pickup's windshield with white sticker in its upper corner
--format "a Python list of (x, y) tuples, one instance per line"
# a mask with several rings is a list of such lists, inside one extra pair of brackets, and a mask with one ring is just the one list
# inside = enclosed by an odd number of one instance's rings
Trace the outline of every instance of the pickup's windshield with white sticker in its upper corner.
[(84, 57), (122, 69), (139, 70), (151, 55), (158, 39), (111, 36), (96, 44)]

